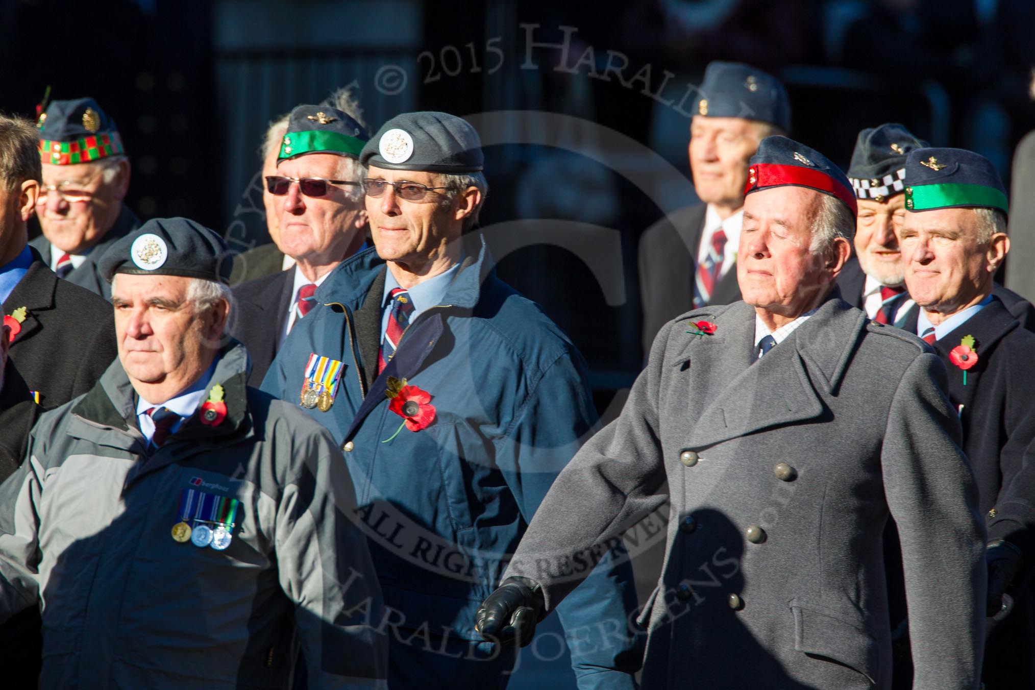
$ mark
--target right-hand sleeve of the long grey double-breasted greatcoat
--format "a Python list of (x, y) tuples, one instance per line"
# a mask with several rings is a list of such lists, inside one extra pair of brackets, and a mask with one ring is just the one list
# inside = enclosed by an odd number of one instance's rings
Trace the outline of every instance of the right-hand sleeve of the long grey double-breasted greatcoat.
[(985, 531), (947, 388), (936, 355), (910, 364), (891, 402), (881, 462), (901, 543), (913, 687), (974, 690), (984, 647)]

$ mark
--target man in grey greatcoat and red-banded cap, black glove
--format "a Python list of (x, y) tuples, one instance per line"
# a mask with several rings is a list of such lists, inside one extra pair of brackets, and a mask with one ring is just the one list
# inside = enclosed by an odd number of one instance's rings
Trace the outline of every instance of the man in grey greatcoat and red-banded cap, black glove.
[(578, 582), (565, 561), (657, 506), (668, 479), (644, 687), (887, 688), (890, 514), (922, 640), (914, 687), (974, 690), (984, 530), (945, 367), (838, 297), (856, 205), (829, 160), (771, 137), (746, 191), (744, 301), (662, 329), (620, 417), (554, 483), (480, 629), (527, 639)]

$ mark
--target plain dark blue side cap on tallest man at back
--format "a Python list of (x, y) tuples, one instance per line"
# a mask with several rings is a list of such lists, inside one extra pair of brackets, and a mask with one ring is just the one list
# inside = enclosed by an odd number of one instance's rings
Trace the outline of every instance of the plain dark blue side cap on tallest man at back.
[(791, 131), (791, 102), (783, 85), (775, 77), (740, 62), (708, 63), (691, 113), (760, 120)]

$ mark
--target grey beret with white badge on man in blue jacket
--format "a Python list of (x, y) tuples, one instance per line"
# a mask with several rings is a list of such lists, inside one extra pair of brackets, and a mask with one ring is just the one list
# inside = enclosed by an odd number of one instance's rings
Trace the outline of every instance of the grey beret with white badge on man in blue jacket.
[(381, 125), (359, 161), (388, 170), (476, 173), (484, 166), (481, 140), (467, 120), (448, 113), (403, 113)]

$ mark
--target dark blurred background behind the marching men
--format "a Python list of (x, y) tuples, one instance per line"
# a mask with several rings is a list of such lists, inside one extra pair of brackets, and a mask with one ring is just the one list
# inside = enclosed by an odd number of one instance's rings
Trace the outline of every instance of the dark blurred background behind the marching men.
[(269, 239), (258, 148), (295, 104), (355, 82), (374, 129), (470, 117), (499, 271), (571, 335), (610, 416), (643, 358), (640, 234), (696, 201), (687, 109), (710, 60), (778, 76), (791, 136), (846, 168), (859, 129), (898, 121), (1009, 185), (1035, 128), (1033, 35), (1031, 0), (0, 0), (0, 109), (31, 116), (48, 85), (95, 97), (137, 213), (189, 216), (237, 250)]

